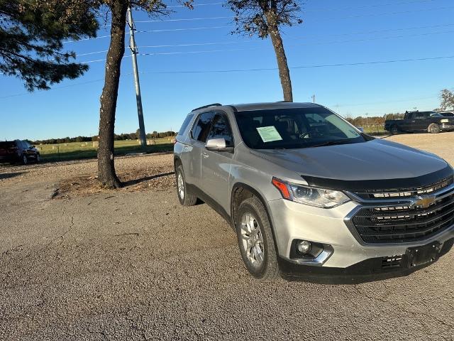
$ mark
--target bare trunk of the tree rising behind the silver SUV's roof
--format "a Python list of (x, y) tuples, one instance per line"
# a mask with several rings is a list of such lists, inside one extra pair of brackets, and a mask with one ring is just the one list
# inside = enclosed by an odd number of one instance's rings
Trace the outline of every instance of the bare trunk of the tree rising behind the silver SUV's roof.
[(275, 24), (275, 14), (272, 11), (266, 13), (268, 33), (270, 33), (271, 42), (275, 48), (277, 67), (279, 67), (279, 78), (281, 80), (282, 92), (284, 92), (284, 101), (293, 102), (292, 81), (290, 80), (289, 65), (285, 55), (284, 44), (282, 43), (281, 33)]

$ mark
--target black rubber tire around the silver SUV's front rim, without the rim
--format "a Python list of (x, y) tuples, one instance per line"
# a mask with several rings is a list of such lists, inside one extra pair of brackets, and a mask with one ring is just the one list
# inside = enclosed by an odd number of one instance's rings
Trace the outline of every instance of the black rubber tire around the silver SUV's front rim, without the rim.
[[(249, 253), (253, 252), (249, 247), (248, 242), (245, 239), (245, 228), (243, 228), (242, 220), (246, 215), (250, 215), (258, 223), (257, 229), (260, 229), (260, 235), (257, 234), (257, 237), (262, 240), (262, 243), (258, 243), (260, 248), (262, 247), (262, 263), (253, 264), (253, 261), (250, 260)], [(250, 197), (243, 202), (241, 202), (240, 207), (238, 207), (238, 215), (236, 215), (236, 236), (238, 239), (238, 247), (240, 249), (241, 258), (246, 266), (246, 269), (252, 274), (255, 278), (260, 279), (261, 281), (272, 280), (279, 277), (279, 264), (277, 264), (277, 254), (275, 248), (275, 240), (272, 237), (272, 227), (270, 220), (268, 220), (268, 215), (263, 207), (262, 202), (258, 200), (257, 197)], [(255, 222), (254, 222), (255, 224)], [(257, 242), (256, 244), (257, 245)]]

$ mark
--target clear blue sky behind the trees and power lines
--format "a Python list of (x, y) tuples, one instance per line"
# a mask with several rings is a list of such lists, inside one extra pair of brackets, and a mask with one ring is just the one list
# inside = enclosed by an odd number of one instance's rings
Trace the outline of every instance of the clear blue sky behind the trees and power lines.
[[(270, 40), (230, 34), (232, 13), (220, 2), (196, 1), (206, 6), (195, 6), (192, 11), (173, 7), (175, 13), (160, 22), (140, 22), (153, 19), (133, 13), (138, 31), (154, 31), (136, 33), (139, 53), (158, 53), (138, 56), (147, 132), (177, 131), (187, 112), (208, 103), (282, 100), (277, 70), (157, 73), (277, 66)], [(440, 102), (438, 92), (454, 88), (454, 58), (326, 66), (454, 56), (452, 0), (305, 2), (304, 23), (282, 30), (289, 66), (311, 66), (291, 70), (295, 102), (309, 102), (315, 94), (316, 102), (344, 116), (382, 115), (414, 107), (434, 109)], [(178, 21), (184, 18), (201, 20)], [(103, 28), (98, 36), (107, 34), (109, 28)], [(109, 38), (97, 38), (65, 47), (85, 62), (104, 59), (106, 53), (97, 52), (107, 50), (108, 44)], [(157, 45), (179, 46), (147, 47)], [(87, 53), (93, 54), (82, 55)], [(125, 54), (130, 55), (128, 50)], [(0, 139), (96, 135), (104, 61), (89, 65), (83, 77), (33, 93), (26, 93), (20, 80), (0, 75)], [(117, 134), (138, 128), (131, 71), (131, 58), (126, 57)]]

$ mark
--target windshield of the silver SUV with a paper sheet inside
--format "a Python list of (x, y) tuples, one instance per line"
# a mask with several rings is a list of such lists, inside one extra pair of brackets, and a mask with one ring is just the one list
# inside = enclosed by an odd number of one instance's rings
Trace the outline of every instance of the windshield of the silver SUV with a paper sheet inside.
[(236, 121), (246, 146), (253, 149), (308, 148), (366, 141), (353, 126), (323, 107), (238, 112)]

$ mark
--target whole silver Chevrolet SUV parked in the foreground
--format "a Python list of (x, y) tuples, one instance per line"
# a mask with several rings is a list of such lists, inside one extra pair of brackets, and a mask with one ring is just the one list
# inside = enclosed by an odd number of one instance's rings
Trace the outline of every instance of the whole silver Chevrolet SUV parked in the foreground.
[(402, 276), (453, 246), (453, 168), (321, 105), (197, 108), (174, 151), (179, 202), (225, 217), (257, 278)]

